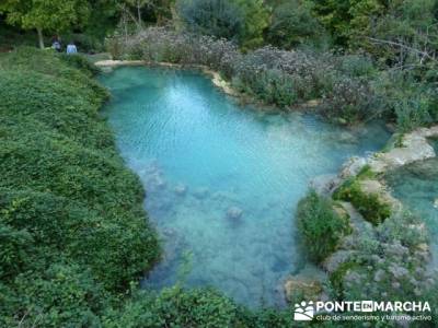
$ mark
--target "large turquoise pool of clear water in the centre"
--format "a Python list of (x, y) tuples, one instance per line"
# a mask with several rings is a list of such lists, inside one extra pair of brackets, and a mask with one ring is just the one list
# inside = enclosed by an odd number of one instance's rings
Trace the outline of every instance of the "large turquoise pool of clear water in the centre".
[(300, 265), (293, 212), (310, 179), (389, 137), (379, 125), (351, 131), (241, 107), (193, 71), (120, 68), (102, 82), (113, 94), (104, 113), (164, 241), (145, 281), (154, 289), (182, 281), (278, 305), (280, 280)]

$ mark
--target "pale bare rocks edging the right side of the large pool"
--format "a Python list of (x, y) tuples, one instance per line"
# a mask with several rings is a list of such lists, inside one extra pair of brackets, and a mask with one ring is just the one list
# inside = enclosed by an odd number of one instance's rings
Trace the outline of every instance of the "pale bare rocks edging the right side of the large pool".
[[(338, 175), (324, 175), (315, 177), (310, 187), (323, 197), (333, 198), (336, 189), (345, 181), (358, 179), (360, 189), (366, 195), (374, 195), (382, 203), (389, 204), (392, 213), (401, 213), (403, 206), (400, 200), (394, 198), (384, 181), (384, 174), (401, 166), (428, 159), (436, 157), (437, 154), (429, 142), (429, 139), (438, 138), (438, 126), (430, 128), (419, 128), (410, 133), (401, 136), (396, 144), (392, 144), (389, 150), (377, 152), (368, 157), (351, 157), (342, 167)], [(368, 171), (364, 178), (360, 175)], [(358, 178), (359, 177), (359, 178)], [(325, 279), (312, 280), (304, 278), (303, 272), (288, 277), (284, 280), (286, 298), (293, 301), (300, 295), (306, 295), (309, 300), (326, 300), (327, 291), (324, 290), (324, 280), (337, 272), (343, 265), (348, 263), (355, 258), (355, 250), (351, 245), (355, 238), (364, 231), (372, 231), (372, 224), (364, 219), (358, 209), (351, 202), (336, 201), (350, 220), (353, 233), (345, 236), (339, 243), (338, 249), (321, 263), (320, 270), (325, 273)], [(367, 229), (364, 229), (367, 226)], [(425, 231), (424, 223), (411, 224), (406, 229)], [(427, 254), (430, 260), (429, 245), (420, 243), (416, 245), (418, 251)], [(306, 270), (306, 269), (304, 269)], [(348, 273), (348, 271), (347, 271)], [(312, 286), (311, 289), (309, 286)]]

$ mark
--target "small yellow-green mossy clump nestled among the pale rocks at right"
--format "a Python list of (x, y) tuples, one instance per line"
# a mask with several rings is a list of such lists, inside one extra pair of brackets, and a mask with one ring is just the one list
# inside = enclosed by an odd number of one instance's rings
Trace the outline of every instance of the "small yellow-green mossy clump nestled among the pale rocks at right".
[(358, 178), (345, 181), (334, 192), (333, 197), (351, 202), (364, 219), (373, 225), (382, 223), (391, 215), (391, 206), (382, 201), (377, 194), (364, 192)]

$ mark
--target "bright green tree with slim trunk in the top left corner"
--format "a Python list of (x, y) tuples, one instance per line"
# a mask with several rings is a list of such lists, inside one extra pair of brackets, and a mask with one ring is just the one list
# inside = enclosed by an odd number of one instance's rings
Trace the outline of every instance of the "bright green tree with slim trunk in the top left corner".
[(44, 31), (62, 32), (83, 25), (90, 7), (87, 0), (3, 0), (0, 13), (5, 13), (9, 24), (36, 30), (39, 47), (44, 48)]

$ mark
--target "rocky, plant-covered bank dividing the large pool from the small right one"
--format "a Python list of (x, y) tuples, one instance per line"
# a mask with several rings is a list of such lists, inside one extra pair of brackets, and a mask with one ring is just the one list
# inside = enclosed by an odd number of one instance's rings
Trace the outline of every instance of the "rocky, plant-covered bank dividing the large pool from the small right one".
[[(312, 187), (320, 197), (347, 215), (351, 233), (316, 263), (325, 278), (303, 279), (298, 273), (286, 280), (290, 300), (306, 292), (316, 300), (380, 300), (384, 295), (438, 304), (436, 272), (429, 268), (437, 254), (431, 254), (425, 221), (406, 211), (385, 183), (392, 171), (436, 157), (430, 138), (437, 136), (438, 126), (394, 134), (383, 151), (349, 160), (337, 176), (314, 179)], [(435, 319), (436, 315), (434, 311)]]

